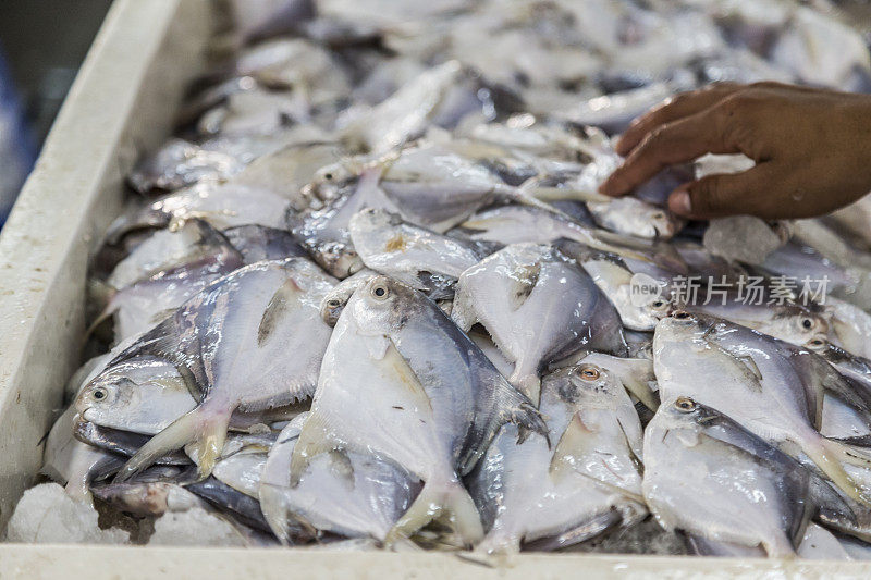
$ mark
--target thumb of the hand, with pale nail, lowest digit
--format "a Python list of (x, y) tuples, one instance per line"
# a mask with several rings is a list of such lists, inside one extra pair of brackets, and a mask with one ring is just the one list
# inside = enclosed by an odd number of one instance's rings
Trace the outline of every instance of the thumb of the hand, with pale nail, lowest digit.
[(668, 196), (668, 209), (684, 218), (707, 220), (727, 215), (784, 218), (793, 211), (778, 200), (775, 171), (760, 163), (741, 173), (708, 175), (686, 183)]

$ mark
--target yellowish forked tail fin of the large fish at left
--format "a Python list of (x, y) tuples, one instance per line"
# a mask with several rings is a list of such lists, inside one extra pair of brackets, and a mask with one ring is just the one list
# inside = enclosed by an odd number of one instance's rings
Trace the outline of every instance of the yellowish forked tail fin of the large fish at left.
[[(200, 405), (188, 411), (133, 454), (124, 467), (115, 474), (114, 482), (130, 480), (144, 469), (151, 466), (158, 458), (169, 452), (180, 449), (185, 444), (196, 442), (201, 454), (198, 469), (200, 479), (211, 473), (214, 460), (220, 456), (223, 442), (226, 437), (226, 427), (230, 421), (229, 414), (216, 414), (208, 418)], [(204, 474), (205, 473), (205, 474)]]

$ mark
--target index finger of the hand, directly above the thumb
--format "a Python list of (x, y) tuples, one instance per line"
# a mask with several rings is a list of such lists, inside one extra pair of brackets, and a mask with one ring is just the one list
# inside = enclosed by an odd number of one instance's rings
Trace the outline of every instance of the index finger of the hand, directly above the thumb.
[(622, 196), (668, 165), (691, 161), (704, 153), (738, 153), (738, 145), (729, 138), (734, 131), (726, 128), (726, 124), (738, 122), (714, 108), (663, 125), (645, 137), (599, 192)]

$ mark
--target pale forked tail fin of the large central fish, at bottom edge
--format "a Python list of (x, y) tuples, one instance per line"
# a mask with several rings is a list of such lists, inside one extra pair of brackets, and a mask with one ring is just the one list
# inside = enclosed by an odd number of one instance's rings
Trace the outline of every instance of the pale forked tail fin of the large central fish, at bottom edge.
[(445, 511), (450, 525), (465, 544), (474, 545), (481, 541), (483, 527), (478, 508), (469, 492), (454, 479), (444, 484), (426, 482), (420, 494), (384, 538), (384, 543), (392, 545), (408, 538)]

